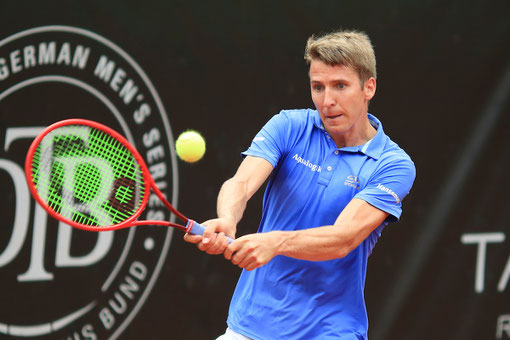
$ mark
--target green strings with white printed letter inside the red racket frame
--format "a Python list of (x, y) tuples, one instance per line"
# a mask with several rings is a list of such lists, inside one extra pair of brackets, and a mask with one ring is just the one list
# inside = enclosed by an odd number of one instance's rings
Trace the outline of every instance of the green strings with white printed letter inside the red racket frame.
[(53, 211), (88, 226), (125, 221), (145, 194), (130, 150), (92, 127), (65, 126), (46, 135), (34, 154), (32, 174), (39, 196)]

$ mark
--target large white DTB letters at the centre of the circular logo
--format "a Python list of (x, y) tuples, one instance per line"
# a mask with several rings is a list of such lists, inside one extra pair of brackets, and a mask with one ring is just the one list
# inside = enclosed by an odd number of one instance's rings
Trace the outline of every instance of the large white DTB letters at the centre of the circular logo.
[[(84, 129), (87, 130), (87, 129)], [(5, 134), (4, 151), (8, 152), (9, 148), (13, 143), (24, 141), (23, 145), (26, 145), (26, 140), (31, 140), (36, 137), (37, 133), (42, 131), (42, 127), (27, 127), (27, 128), (7, 128)], [(61, 131), (66, 133), (66, 131)], [(80, 138), (86, 140), (88, 131), (81, 131)], [(76, 133), (76, 131), (74, 132)], [(52, 136), (51, 136), (52, 137)], [(48, 169), (51, 167), (50, 162), (53, 162), (51, 157), (53, 151), (53, 144), (51, 143), (52, 138), (45, 138), (45, 143), (42, 143), (41, 154), (46, 155), (42, 157), (41, 169)], [(59, 158), (56, 161), (66, 164), (65, 173), (74, 176), (77, 160), (73, 158)], [(48, 164), (44, 164), (44, 162)], [(81, 162), (104, 162), (102, 159), (94, 160), (81, 160)], [(107, 166), (102, 168), (107, 169)], [(48, 271), (44, 266), (45, 259), (45, 245), (46, 245), (46, 229), (48, 223), (48, 216), (45, 211), (34, 202), (31, 202), (28, 188), (26, 187), (25, 172), (23, 168), (15, 162), (7, 159), (0, 159), (0, 169), (4, 170), (10, 177), (14, 189), (15, 189), (15, 200), (14, 200), (14, 222), (13, 231), (7, 246), (4, 251), (0, 254), (0, 267), (6, 266), (11, 263), (20, 253), (25, 240), (27, 239), (27, 233), (29, 232), (29, 216), (30, 211), (34, 210), (34, 220), (32, 228), (32, 244), (30, 247), (30, 262), (28, 269), (24, 273), (17, 275), (18, 281), (44, 281), (52, 280), (53, 273)], [(48, 176), (48, 173), (41, 172), (40, 176)], [(109, 176), (102, 176), (102, 178), (108, 178)], [(113, 176), (110, 176), (113, 177)], [(49, 183), (48, 180), (40, 181), (41, 183)], [(102, 183), (101, 186), (105, 190), (108, 190), (108, 186), (111, 184)], [(39, 188), (42, 195), (48, 193), (48, 188)], [(104, 192), (104, 190), (103, 190)], [(64, 195), (65, 197), (65, 195)], [(72, 197), (72, 195), (67, 195)], [(102, 193), (98, 193), (96, 196), (97, 200), (104, 200)], [(68, 205), (74, 204), (72, 201), (67, 202)], [(91, 204), (91, 206), (97, 206)], [(72, 209), (78, 209), (72, 207)], [(83, 209), (83, 208), (82, 208)], [(67, 209), (67, 211), (70, 211)], [(111, 222), (106, 214), (93, 211), (91, 212), (97, 218), (103, 219), (102, 222)], [(97, 235), (97, 241), (94, 247), (86, 254), (81, 256), (73, 256), (71, 254), (71, 239), (73, 230), (69, 226), (59, 223), (58, 234), (56, 240), (56, 254), (55, 254), (55, 267), (82, 267), (90, 266), (100, 261), (110, 250), (113, 242), (113, 233), (104, 232)]]

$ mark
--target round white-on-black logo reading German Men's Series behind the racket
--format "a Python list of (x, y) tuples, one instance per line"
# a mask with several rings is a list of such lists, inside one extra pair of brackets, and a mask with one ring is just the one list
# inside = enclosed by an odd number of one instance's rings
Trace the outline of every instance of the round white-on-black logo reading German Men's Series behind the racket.
[[(28, 146), (44, 127), (68, 118), (95, 120), (126, 136), (176, 204), (167, 114), (125, 51), (69, 26), (0, 41), (2, 338), (117, 338), (147, 299), (170, 246), (171, 228), (85, 232), (49, 218), (30, 198), (23, 172)], [(151, 199), (141, 218), (170, 214)]]

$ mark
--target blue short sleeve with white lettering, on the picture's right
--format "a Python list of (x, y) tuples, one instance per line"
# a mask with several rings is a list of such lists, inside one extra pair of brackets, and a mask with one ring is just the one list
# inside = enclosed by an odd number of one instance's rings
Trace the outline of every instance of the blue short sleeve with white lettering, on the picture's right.
[(409, 158), (394, 159), (382, 165), (355, 198), (390, 214), (388, 222), (396, 222), (402, 214), (402, 200), (411, 190), (416, 168)]

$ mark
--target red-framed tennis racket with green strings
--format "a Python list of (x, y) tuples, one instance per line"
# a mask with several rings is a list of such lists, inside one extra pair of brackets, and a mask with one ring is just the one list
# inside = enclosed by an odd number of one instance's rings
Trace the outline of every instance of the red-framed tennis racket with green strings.
[[(97, 122), (68, 119), (44, 129), (30, 146), (25, 175), (35, 200), (52, 217), (75, 228), (107, 231), (158, 225), (194, 235), (205, 230), (168, 202), (138, 151)], [(138, 220), (151, 190), (184, 225)]]

